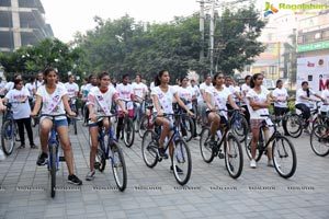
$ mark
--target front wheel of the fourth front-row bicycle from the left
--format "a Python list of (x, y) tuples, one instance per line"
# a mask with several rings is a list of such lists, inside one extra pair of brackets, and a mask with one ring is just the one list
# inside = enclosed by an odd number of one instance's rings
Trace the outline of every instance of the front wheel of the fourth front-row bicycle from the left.
[(243, 168), (243, 154), (242, 148), (237, 139), (231, 132), (228, 134), (225, 141), (225, 165), (228, 174), (232, 178), (237, 178), (241, 175)]

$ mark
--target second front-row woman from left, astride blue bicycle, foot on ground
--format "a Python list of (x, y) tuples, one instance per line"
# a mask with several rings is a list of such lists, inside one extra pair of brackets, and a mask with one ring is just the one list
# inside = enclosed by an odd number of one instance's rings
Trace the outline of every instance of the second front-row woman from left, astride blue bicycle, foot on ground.
[(127, 114), (125, 105), (120, 101), (118, 93), (114, 87), (110, 85), (110, 76), (107, 72), (101, 72), (98, 76), (99, 85), (92, 88), (88, 94), (87, 106), (89, 108), (89, 135), (91, 139), (90, 148), (90, 172), (87, 174), (86, 180), (92, 181), (94, 177), (94, 160), (95, 153), (99, 145), (99, 128), (104, 126), (109, 130), (111, 122), (107, 117), (100, 116), (110, 116), (111, 115), (111, 105), (112, 101), (115, 101), (117, 105), (123, 108), (123, 113)]

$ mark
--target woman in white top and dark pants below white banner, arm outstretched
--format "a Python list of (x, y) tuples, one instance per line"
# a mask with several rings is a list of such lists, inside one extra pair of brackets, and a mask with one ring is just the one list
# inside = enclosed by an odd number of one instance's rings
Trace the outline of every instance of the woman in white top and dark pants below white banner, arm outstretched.
[(315, 101), (314, 99), (309, 97), (310, 95), (314, 95), (318, 99), (320, 99), (322, 102), (326, 100), (320, 96), (319, 94), (315, 93), (313, 90), (308, 88), (308, 82), (303, 81), (302, 82), (302, 88), (297, 90), (296, 94), (296, 108), (302, 111), (303, 118), (304, 118), (304, 127), (308, 126), (308, 118), (310, 117), (310, 101)]

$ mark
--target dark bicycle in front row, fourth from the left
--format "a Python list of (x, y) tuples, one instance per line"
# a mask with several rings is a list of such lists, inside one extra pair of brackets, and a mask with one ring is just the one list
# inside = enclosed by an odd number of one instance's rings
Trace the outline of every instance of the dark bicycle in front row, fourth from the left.
[[(228, 112), (226, 110), (218, 110), (216, 113), (219, 115), (219, 112)], [(239, 111), (239, 110), (234, 110)], [(222, 124), (223, 125), (223, 124)], [(225, 159), (225, 166), (228, 174), (232, 178), (238, 178), (243, 169), (243, 153), (240, 141), (234, 135), (230, 124), (224, 125), (224, 135), (217, 130), (217, 136), (215, 137), (216, 145), (211, 146), (211, 128), (204, 126), (200, 135), (200, 151), (202, 159), (206, 163), (213, 162), (214, 158), (218, 155), (219, 159)], [(222, 146), (224, 143), (224, 153)]]

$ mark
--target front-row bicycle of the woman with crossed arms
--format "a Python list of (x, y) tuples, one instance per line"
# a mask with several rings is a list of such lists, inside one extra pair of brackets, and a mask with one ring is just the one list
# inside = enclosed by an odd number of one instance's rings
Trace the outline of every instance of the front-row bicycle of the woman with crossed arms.
[[(277, 130), (277, 124), (280, 120), (283, 119), (283, 116), (273, 117), (271, 115), (261, 115), (264, 117), (264, 120), (262, 123), (262, 126), (260, 127), (260, 134), (258, 141), (256, 143), (256, 161), (259, 161), (262, 157), (262, 154), (268, 153), (268, 148), (272, 143), (272, 162), (275, 168), (275, 171), (279, 173), (280, 176), (284, 178), (288, 178), (294, 175), (296, 168), (297, 168), (297, 157), (295, 152), (295, 148), (293, 143), (290, 141), (288, 138), (283, 136)], [(271, 119), (274, 122), (272, 125), (268, 125), (265, 119)], [(274, 131), (269, 138), (269, 140), (265, 140), (265, 135), (263, 129), (265, 127), (273, 127)], [(252, 159), (251, 157), (251, 140), (249, 142), (246, 141), (246, 151), (249, 159)], [(292, 159), (292, 163), (285, 165), (285, 162), (288, 163), (288, 161), (284, 159)]]

